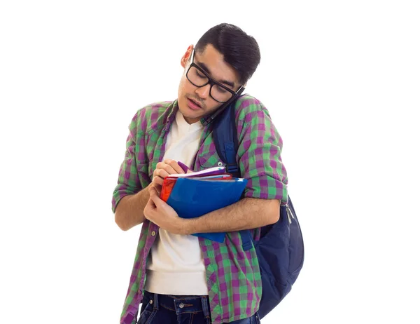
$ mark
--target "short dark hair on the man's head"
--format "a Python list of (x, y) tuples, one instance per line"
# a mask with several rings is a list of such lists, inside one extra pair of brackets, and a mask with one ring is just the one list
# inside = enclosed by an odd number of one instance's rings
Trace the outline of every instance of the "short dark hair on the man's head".
[(211, 44), (222, 55), (226, 63), (239, 73), (239, 82), (246, 83), (260, 64), (260, 48), (253, 36), (249, 36), (232, 24), (212, 27), (199, 39), (195, 50), (202, 53)]

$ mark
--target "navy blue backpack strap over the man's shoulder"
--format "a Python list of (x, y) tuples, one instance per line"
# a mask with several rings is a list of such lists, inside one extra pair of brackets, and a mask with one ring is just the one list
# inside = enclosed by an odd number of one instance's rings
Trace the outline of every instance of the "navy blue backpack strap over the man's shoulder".
[[(235, 102), (232, 102), (217, 116), (214, 121), (213, 139), (218, 156), (227, 166), (228, 173), (233, 177), (241, 177), (237, 163), (237, 151), (239, 147), (237, 125), (235, 121)], [(253, 246), (251, 231), (244, 229), (239, 231), (242, 238), (242, 248), (247, 251)]]

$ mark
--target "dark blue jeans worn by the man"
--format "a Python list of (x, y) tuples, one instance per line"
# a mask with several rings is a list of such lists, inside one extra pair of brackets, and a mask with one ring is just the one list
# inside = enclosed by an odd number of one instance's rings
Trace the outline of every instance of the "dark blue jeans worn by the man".
[[(259, 324), (255, 314), (232, 324)], [(209, 297), (172, 296), (144, 292), (137, 324), (211, 324)]]

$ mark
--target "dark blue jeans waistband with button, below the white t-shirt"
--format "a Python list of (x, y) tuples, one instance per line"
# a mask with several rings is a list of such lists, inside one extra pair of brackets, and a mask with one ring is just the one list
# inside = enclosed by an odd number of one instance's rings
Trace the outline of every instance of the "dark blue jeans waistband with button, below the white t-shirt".
[(153, 300), (154, 309), (163, 307), (176, 312), (176, 315), (202, 311), (204, 317), (210, 318), (208, 296), (160, 295), (145, 291), (144, 297), (146, 297), (146, 299)]

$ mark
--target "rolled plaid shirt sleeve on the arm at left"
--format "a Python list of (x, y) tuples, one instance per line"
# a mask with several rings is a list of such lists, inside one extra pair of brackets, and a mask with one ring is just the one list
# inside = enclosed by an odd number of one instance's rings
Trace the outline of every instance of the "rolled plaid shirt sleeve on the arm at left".
[(126, 141), (126, 149), (124, 161), (121, 163), (120, 172), (118, 173), (118, 183), (112, 196), (112, 210), (116, 211), (116, 207), (120, 200), (127, 195), (137, 194), (141, 188), (139, 179), (137, 159), (139, 147), (141, 147), (141, 132), (138, 130), (136, 114), (129, 126), (129, 133)]

